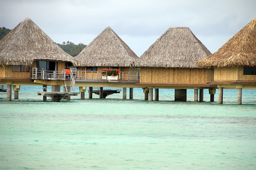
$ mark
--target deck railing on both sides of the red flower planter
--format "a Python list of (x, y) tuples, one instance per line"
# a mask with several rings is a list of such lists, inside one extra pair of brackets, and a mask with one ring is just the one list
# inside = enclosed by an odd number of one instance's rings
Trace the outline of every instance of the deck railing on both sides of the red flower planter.
[[(105, 74), (104, 74), (105, 73)], [(106, 71), (77, 71), (77, 80), (108, 80)], [(118, 79), (123, 81), (139, 81), (140, 72), (119, 72)]]

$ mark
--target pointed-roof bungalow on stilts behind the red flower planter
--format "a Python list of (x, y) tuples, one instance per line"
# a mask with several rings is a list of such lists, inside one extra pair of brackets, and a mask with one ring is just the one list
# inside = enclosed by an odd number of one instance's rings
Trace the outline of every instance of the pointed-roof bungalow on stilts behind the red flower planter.
[[(138, 68), (131, 66), (131, 63), (139, 57), (110, 27), (106, 27), (75, 58), (78, 64), (76, 81), (106, 82), (109, 80), (104, 75), (106, 69), (117, 69), (120, 72), (116, 77), (116, 80), (118, 80), (116, 82), (139, 82)], [(125, 84), (119, 85), (119, 87), (125, 87)], [(86, 86), (89, 86), (89, 98), (91, 98), (92, 87), (90, 86), (97, 86), (97, 84), (87, 84)], [(102, 88), (100, 87), (100, 90)], [(126, 90), (126, 88), (123, 90)], [(132, 90), (130, 88), (130, 92)], [(126, 99), (126, 94), (124, 96), (124, 99)], [(132, 98), (131, 94), (130, 98)]]

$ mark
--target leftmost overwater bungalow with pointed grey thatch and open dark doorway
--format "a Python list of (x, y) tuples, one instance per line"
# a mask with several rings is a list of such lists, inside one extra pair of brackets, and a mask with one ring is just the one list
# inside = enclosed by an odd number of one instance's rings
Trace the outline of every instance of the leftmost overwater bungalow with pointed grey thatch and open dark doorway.
[(0, 84), (7, 85), (7, 100), (12, 85), (14, 98), (20, 85), (63, 85), (59, 73), (76, 64), (29, 18), (0, 40)]

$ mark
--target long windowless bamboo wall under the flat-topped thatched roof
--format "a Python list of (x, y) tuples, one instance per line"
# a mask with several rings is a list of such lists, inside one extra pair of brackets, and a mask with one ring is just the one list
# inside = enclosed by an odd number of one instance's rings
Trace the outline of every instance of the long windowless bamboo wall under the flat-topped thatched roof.
[(140, 68), (140, 83), (206, 84), (213, 81), (213, 69)]

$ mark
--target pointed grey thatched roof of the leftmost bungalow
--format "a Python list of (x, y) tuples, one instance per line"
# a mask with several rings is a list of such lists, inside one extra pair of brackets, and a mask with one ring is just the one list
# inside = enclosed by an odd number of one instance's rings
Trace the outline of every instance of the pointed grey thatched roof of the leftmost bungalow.
[(66, 61), (76, 66), (71, 55), (25, 18), (0, 40), (0, 65), (31, 65), (34, 60)]

